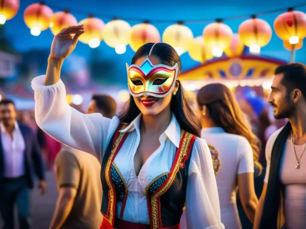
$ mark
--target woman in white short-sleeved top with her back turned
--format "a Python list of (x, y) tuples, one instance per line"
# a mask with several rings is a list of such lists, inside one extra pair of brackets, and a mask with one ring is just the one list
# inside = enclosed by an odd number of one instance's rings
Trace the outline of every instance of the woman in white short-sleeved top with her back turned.
[[(258, 203), (254, 189), (254, 164), (258, 163), (259, 140), (233, 93), (223, 84), (209, 84), (199, 90), (202, 132), (212, 156), (221, 208), (221, 221), (226, 229), (241, 228), (236, 206), (238, 188), (242, 206), (253, 223)], [(214, 147), (214, 148), (213, 148)]]

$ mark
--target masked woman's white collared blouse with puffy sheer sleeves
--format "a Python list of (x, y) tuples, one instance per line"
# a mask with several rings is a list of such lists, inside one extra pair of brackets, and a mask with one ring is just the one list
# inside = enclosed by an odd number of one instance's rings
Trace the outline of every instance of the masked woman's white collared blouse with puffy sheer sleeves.
[[(66, 102), (65, 85), (60, 80), (44, 86), (45, 76), (32, 80), (35, 91), (35, 119), (37, 125), (59, 142), (95, 155), (100, 161), (119, 125), (118, 117), (105, 118), (101, 114), (82, 114)], [(130, 132), (114, 163), (128, 187), (123, 220), (149, 224), (145, 188), (162, 173), (169, 172), (180, 141), (180, 126), (176, 118), (159, 137), (160, 147), (147, 159), (136, 175), (133, 158), (140, 142), (141, 115), (122, 131)], [(211, 154), (204, 139), (196, 138), (189, 165), (186, 190), (186, 218), (188, 229), (223, 229), (217, 184)], [(121, 203), (117, 203), (117, 217)]]

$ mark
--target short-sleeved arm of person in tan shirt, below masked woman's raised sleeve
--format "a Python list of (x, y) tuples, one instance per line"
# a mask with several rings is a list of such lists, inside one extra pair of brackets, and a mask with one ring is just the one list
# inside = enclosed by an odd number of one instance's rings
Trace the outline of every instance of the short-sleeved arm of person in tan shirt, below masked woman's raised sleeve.
[(70, 214), (80, 181), (80, 166), (69, 151), (60, 151), (55, 159), (59, 196), (49, 229), (61, 228)]

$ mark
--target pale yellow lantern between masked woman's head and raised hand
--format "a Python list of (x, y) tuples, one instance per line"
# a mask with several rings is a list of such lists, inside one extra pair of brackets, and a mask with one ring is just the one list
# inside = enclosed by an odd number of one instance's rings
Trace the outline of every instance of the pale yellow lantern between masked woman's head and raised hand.
[(129, 44), (131, 26), (124, 20), (115, 19), (105, 24), (103, 39), (106, 45), (115, 48), (116, 53), (123, 54)]

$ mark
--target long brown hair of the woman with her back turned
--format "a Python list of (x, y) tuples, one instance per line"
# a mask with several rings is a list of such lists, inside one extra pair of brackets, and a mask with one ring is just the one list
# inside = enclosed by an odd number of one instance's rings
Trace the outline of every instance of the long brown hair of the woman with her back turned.
[(209, 117), (215, 126), (221, 127), (227, 133), (245, 137), (253, 150), (254, 165), (262, 171), (258, 162), (260, 141), (249, 127), (246, 118), (239, 107), (236, 97), (228, 87), (220, 83), (208, 84), (202, 87), (197, 95), (199, 109), (207, 107)]

